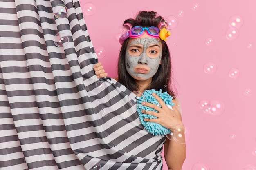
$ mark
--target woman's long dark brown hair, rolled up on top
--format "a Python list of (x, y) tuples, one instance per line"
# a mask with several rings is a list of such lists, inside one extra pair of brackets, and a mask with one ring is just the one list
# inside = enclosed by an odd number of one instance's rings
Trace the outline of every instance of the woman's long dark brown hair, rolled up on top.
[[(157, 16), (156, 12), (140, 11), (135, 19), (127, 19), (124, 21), (124, 24), (129, 23), (131, 24), (132, 27), (159, 27), (159, 24), (161, 24), (162, 19), (163, 18), (161, 16)], [(131, 77), (129, 73), (126, 71), (125, 54), (128, 39), (124, 41), (119, 53), (117, 67), (118, 81), (124, 86), (126, 86), (130, 91), (139, 91), (138, 84), (135, 82), (134, 78)], [(156, 91), (162, 89), (162, 92), (167, 91), (169, 95), (175, 98), (177, 94), (173, 91), (171, 84), (171, 55), (166, 42), (164, 40), (160, 40), (160, 42), (162, 44), (162, 63), (159, 64), (157, 73), (155, 73), (155, 75), (152, 77), (152, 82), (147, 89), (155, 89)]]

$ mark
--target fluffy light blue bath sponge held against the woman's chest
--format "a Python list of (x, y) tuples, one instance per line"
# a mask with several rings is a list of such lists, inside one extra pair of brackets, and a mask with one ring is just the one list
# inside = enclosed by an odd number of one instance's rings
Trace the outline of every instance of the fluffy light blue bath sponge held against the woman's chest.
[(143, 106), (141, 103), (142, 102), (148, 102), (148, 103), (153, 103), (155, 105), (158, 105), (159, 107), (160, 104), (157, 101), (155, 97), (153, 97), (152, 93), (157, 94), (166, 105), (174, 106), (175, 104), (173, 102), (173, 97), (171, 97), (167, 92), (162, 93), (162, 90), (160, 89), (159, 91), (155, 91), (155, 89), (152, 90), (145, 90), (143, 92), (143, 95), (137, 99), (137, 112), (139, 115), (139, 120), (141, 121), (141, 124), (144, 126), (144, 129), (146, 129), (149, 133), (155, 136), (162, 136), (171, 133), (170, 129), (165, 128), (164, 126), (158, 124), (158, 123), (153, 123), (153, 122), (148, 122), (144, 121), (143, 119), (154, 119), (157, 118), (153, 115), (148, 115), (141, 113), (141, 110), (146, 110), (146, 111), (155, 111), (158, 112), (157, 110), (150, 108), (148, 106)]

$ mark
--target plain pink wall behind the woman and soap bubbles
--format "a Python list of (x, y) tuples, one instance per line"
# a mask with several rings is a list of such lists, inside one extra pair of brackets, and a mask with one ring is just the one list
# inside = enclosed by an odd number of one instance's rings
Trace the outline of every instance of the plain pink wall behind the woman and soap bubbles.
[[(121, 47), (117, 37), (125, 19), (140, 10), (177, 18), (167, 43), (186, 126), (183, 170), (256, 169), (255, 0), (80, 0), (80, 4), (109, 77), (116, 77)], [(235, 31), (231, 37), (230, 30)], [(209, 62), (216, 66), (204, 67)], [(240, 75), (230, 76), (234, 69)], [(215, 100), (220, 109), (206, 113), (206, 106), (200, 108), (202, 100)]]

